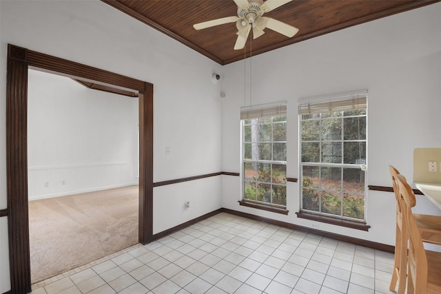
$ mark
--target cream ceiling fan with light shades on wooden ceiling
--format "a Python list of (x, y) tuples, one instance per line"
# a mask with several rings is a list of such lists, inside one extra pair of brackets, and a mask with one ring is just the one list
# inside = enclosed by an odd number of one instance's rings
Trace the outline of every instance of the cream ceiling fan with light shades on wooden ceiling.
[(274, 30), (280, 34), (291, 38), (298, 32), (298, 28), (271, 19), (271, 17), (263, 17), (265, 12), (270, 12), (284, 4), (291, 2), (292, 0), (234, 0), (237, 5), (237, 17), (223, 17), (221, 19), (214, 19), (212, 21), (204, 21), (203, 23), (196, 23), (193, 25), (195, 30), (202, 30), (205, 28), (211, 28), (215, 25), (223, 25), (225, 23), (236, 22), (237, 39), (234, 45), (234, 50), (243, 49), (247, 42), (249, 32), (253, 29), (253, 39), (258, 38), (265, 34), (263, 31), (265, 28)]

